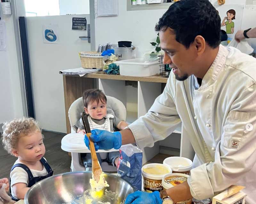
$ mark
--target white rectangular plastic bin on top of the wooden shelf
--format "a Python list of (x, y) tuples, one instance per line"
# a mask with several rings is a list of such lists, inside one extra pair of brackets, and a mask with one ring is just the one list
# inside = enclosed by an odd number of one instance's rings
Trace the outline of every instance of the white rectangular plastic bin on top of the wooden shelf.
[(132, 77), (149, 77), (160, 74), (158, 60), (145, 62), (144, 58), (135, 58), (114, 62), (119, 65), (120, 75)]

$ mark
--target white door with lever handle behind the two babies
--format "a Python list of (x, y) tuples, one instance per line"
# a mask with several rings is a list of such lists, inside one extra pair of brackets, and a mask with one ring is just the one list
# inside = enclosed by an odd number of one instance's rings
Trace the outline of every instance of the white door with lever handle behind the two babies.
[[(66, 133), (65, 103), (59, 71), (81, 67), (78, 52), (91, 50), (91, 43), (79, 38), (87, 36), (87, 30), (72, 30), (73, 17), (86, 18), (88, 29), (90, 14), (25, 18), (35, 118), (40, 127), (63, 133)], [(43, 41), (43, 27), (49, 24), (58, 27), (57, 44)]]

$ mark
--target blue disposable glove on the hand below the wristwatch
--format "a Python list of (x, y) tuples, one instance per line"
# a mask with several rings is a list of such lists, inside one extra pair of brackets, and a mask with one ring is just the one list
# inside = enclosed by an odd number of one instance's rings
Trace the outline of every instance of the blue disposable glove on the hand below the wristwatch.
[(160, 193), (154, 191), (153, 193), (136, 191), (127, 196), (124, 204), (162, 204), (163, 200), (160, 198)]

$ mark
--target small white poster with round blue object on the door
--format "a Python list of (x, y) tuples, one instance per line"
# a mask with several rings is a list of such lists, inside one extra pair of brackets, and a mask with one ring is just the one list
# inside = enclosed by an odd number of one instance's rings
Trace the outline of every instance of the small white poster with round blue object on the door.
[(59, 43), (59, 26), (57, 24), (43, 25), (43, 41), (44, 43)]

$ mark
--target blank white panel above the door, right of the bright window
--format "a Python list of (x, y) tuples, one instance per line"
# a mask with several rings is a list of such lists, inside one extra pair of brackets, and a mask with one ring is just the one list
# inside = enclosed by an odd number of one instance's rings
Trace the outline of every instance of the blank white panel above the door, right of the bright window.
[(89, 0), (59, 0), (60, 15), (89, 14)]

